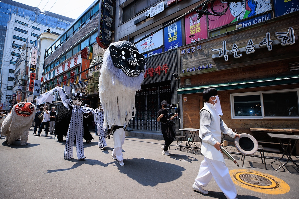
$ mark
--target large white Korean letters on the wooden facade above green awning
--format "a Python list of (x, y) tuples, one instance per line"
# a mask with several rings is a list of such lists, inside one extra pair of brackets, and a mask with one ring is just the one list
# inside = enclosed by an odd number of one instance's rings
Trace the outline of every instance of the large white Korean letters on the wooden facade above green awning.
[(212, 58), (214, 59), (224, 57), (224, 60), (228, 61), (228, 55), (233, 54), (234, 58), (238, 59), (242, 57), (243, 52), (246, 52), (246, 54), (251, 54), (255, 52), (255, 49), (263, 47), (267, 47), (268, 51), (271, 51), (273, 49), (272, 43), (280, 43), (282, 46), (286, 46), (294, 44), (296, 40), (296, 35), (294, 34), (294, 29), (292, 27), (289, 27), (289, 30), (287, 32), (275, 32), (275, 36), (277, 37), (277, 39), (271, 40), (271, 35), (269, 32), (267, 32), (263, 40), (260, 41), (258, 45), (254, 45), (252, 39), (249, 39), (247, 46), (239, 49), (237, 44), (233, 44), (231, 50), (227, 49), (226, 41), (224, 40), (222, 43), (222, 48), (211, 49), (213, 52), (218, 52), (218, 56), (213, 54)]

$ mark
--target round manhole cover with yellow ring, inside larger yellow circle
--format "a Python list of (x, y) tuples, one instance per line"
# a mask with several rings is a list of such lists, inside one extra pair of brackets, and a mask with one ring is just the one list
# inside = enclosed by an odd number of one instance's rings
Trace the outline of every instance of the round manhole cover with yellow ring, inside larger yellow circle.
[(234, 174), (234, 178), (248, 186), (261, 189), (275, 189), (279, 187), (279, 184), (275, 180), (257, 173), (238, 172)]

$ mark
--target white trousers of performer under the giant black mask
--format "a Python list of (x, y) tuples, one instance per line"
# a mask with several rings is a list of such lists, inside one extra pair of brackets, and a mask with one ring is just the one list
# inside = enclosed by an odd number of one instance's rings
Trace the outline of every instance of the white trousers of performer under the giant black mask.
[(112, 154), (116, 156), (117, 161), (121, 161), (124, 158), (122, 157), (122, 145), (125, 142), (125, 130), (123, 128), (116, 129), (116, 131), (113, 133), (113, 143), (114, 143), (114, 149), (112, 151)]

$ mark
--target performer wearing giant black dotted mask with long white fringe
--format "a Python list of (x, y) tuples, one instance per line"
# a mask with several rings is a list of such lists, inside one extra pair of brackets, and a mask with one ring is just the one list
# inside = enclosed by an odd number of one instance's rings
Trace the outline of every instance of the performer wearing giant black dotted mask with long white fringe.
[(144, 56), (129, 41), (110, 44), (104, 53), (99, 76), (99, 95), (104, 110), (103, 128), (112, 128), (112, 158), (124, 166), (122, 145), (124, 125), (135, 116), (135, 92), (140, 90), (145, 73)]

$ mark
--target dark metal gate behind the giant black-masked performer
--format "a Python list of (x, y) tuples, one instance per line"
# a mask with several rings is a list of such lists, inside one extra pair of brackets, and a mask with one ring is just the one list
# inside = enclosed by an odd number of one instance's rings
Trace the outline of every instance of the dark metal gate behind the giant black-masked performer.
[(170, 85), (144, 88), (136, 92), (135, 118), (130, 121), (129, 127), (135, 130), (161, 131), (161, 125), (157, 122), (156, 115), (159, 104), (162, 100), (170, 103), (171, 92)]

